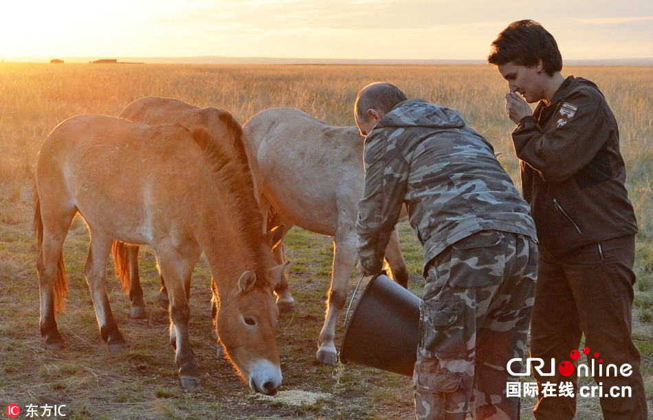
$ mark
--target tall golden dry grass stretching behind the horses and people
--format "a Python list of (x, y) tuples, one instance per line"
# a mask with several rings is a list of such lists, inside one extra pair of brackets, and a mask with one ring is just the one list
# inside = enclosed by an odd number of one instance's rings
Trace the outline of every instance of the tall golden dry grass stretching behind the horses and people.
[[(597, 82), (620, 124), (621, 147), (629, 173), (628, 188), (641, 226), (637, 236), (636, 269), (639, 278), (634, 336), (645, 359), (645, 380), (652, 401), (653, 117), (650, 109), (653, 108), (653, 71), (648, 67), (576, 67), (565, 69), (564, 73)], [(513, 123), (504, 111), (506, 84), (498, 71), (489, 65), (0, 64), (0, 303), (5, 305), (14, 300), (5, 291), (15, 290), (17, 279), (36, 285), (34, 248), (29, 230), (32, 169), (43, 140), (58, 122), (80, 113), (118, 115), (137, 98), (165, 96), (198, 107), (227, 109), (241, 123), (263, 109), (293, 107), (331, 124), (351, 126), (354, 124), (352, 108), (357, 92), (369, 82), (381, 80), (394, 83), (409, 97), (424, 98), (461, 111), (467, 122), (485, 135), (497, 152), (502, 153), (502, 164), (518, 181), (518, 162), (509, 134)], [(84, 231), (83, 225), (77, 229)], [(84, 245), (83, 241), (81, 244)], [(83, 247), (78, 251), (86, 252)], [(321, 269), (326, 272), (329, 270), (329, 253), (329, 250), (322, 251), (327, 256), (327, 265)], [(414, 253), (419, 254), (419, 249)], [(413, 256), (419, 261), (416, 255)], [(14, 313), (14, 309), (0, 309), (2, 352), (25, 350), (16, 347), (12, 344), (14, 339), (10, 339), (14, 337), (11, 331), (25, 325), (21, 320), (10, 318)], [(316, 309), (313, 315), (318, 317), (318, 325), (321, 313), (322, 309)], [(34, 316), (38, 316), (38, 309)], [(93, 324), (92, 320), (89, 322)], [(81, 334), (87, 333), (97, 335), (92, 327)], [(38, 330), (34, 328), (25, 334), (34, 336), (30, 341), (32, 344), (27, 345), (29, 351), (33, 342), (38, 342)], [(8, 372), (11, 373), (5, 368), (5, 373)], [(49, 373), (44, 375), (47, 377)], [(0, 380), (0, 395), (10, 386), (12, 383)], [(157, 398), (161, 398), (159, 393), (163, 391), (157, 391)], [(588, 418), (592, 418), (591, 413)], [(172, 414), (168, 413), (168, 417), (175, 416), (174, 410)]]

